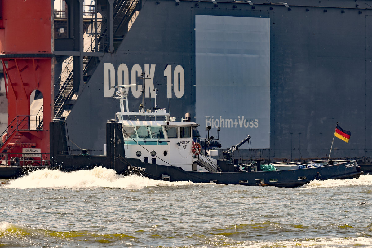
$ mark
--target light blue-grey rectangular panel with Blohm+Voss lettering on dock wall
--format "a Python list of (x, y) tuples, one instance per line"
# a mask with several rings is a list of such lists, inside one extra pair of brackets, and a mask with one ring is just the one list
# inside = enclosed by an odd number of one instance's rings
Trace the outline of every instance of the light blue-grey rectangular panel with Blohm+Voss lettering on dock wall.
[[(222, 148), (270, 148), (270, 19), (195, 17), (196, 122)], [(247, 145), (241, 148), (248, 148)]]

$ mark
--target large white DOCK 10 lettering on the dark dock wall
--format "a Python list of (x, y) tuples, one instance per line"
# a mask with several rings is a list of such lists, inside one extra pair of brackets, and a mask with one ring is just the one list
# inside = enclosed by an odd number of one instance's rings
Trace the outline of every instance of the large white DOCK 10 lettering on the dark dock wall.
[[(132, 95), (136, 98), (141, 97), (142, 79), (139, 76), (143, 71), (146, 74), (145, 81), (145, 97), (155, 97), (154, 93), (154, 75), (155, 75), (156, 65), (145, 64), (144, 70), (139, 64), (132, 66), (129, 72), (129, 68), (126, 64), (120, 64), (118, 69), (111, 63), (103, 63), (103, 84), (104, 84), (104, 94), (105, 97), (112, 97), (115, 93), (115, 88), (111, 86), (123, 85), (123, 84), (136, 84), (140, 83), (138, 86), (129, 88)], [(173, 74), (173, 77), (172, 77)], [(117, 75), (117, 84), (115, 84), (115, 77)], [(148, 78), (147, 78), (148, 76)], [(181, 65), (177, 65), (172, 68), (171, 65), (167, 65), (164, 69), (164, 77), (166, 77), (167, 82), (167, 97), (172, 98), (172, 85), (174, 86), (174, 95), (177, 98), (181, 98), (185, 93), (185, 71)], [(156, 80), (155, 80), (156, 81)]]

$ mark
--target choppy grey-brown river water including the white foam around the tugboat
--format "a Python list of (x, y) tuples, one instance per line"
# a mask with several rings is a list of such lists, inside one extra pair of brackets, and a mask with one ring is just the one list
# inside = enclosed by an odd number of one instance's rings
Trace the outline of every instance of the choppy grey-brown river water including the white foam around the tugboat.
[(105, 168), (0, 182), (0, 247), (372, 247), (372, 175), (296, 189)]

